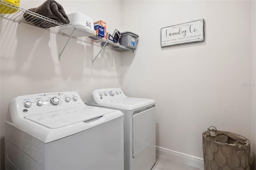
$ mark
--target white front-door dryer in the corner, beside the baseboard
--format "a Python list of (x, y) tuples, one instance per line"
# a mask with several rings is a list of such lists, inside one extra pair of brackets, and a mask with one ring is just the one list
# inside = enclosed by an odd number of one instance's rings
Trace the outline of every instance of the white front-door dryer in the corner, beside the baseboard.
[(94, 90), (90, 105), (124, 113), (124, 169), (150, 170), (156, 162), (155, 101), (109, 88)]

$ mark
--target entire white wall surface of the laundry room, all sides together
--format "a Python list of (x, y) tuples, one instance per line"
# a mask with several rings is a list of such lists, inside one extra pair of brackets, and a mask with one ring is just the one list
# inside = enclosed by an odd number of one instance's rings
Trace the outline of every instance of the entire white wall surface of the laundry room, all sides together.
[[(22, 0), (32, 8), (42, 1)], [(66, 13), (138, 34), (136, 53), (99, 51), (40, 28), (1, 20), (1, 169), (8, 102), (18, 96), (122, 87), (132, 97), (157, 103), (156, 144), (202, 158), (202, 132), (214, 125), (246, 136), (255, 146), (255, 2), (252, 1), (64, 1)], [(99, 6), (99, 4), (102, 6)], [(110, 11), (109, 9), (114, 11)], [(254, 18), (253, 18), (254, 17)], [(160, 47), (160, 28), (204, 18), (205, 41)], [(11, 28), (11, 29), (9, 29)], [(254, 36), (254, 38), (253, 38)]]

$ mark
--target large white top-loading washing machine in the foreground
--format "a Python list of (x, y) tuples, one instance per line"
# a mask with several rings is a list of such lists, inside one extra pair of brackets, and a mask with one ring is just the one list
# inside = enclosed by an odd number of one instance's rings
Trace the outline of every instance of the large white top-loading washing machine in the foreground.
[(5, 121), (6, 170), (124, 169), (124, 115), (76, 92), (19, 96)]

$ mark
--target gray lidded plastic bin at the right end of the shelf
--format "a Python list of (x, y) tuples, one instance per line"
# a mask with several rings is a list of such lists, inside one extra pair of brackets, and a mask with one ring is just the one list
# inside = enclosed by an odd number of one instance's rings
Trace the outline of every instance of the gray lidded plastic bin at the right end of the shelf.
[(121, 32), (120, 45), (130, 49), (136, 49), (138, 43), (138, 35), (133, 32)]

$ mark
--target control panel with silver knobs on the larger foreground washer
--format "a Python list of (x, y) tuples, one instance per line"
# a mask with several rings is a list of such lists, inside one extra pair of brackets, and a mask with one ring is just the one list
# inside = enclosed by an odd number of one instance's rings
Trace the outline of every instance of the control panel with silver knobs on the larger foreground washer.
[(79, 94), (73, 91), (18, 96), (12, 99), (9, 106), (11, 113), (17, 113), (25, 117), (85, 106), (85, 104)]

